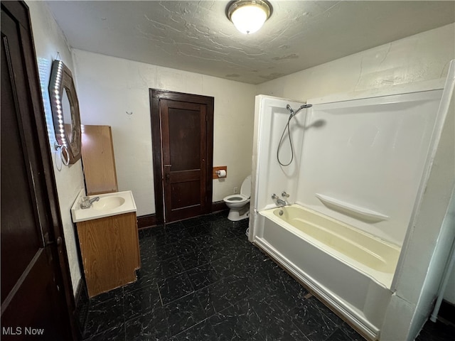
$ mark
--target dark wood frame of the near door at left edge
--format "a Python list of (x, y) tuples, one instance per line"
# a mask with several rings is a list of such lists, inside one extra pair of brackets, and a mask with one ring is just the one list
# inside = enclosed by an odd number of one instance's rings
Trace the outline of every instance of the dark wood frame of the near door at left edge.
[[(10, 16), (16, 18), (20, 28), (19, 35), (24, 56), (24, 72), (28, 77), (28, 91), (30, 91), (31, 105), (33, 107), (33, 127), (36, 129), (36, 144), (40, 151), (40, 155), (34, 157), (37, 167), (40, 169), (38, 174), (45, 181), (45, 191), (48, 196), (48, 201), (43, 202), (48, 217), (52, 222), (52, 227), (49, 229), (49, 241), (52, 243), (50, 249), (53, 257), (58, 259), (54, 266), (55, 281), (63, 291), (65, 301), (64, 308), (67, 311), (67, 317), (64, 319), (70, 328), (68, 334), (73, 340), (77, 340), (77, 325), (75, 321), (75, 298), (73, 296), (73, 283), (70, 277), (70, 266), (68, 263), (68, 254), (65, 246), (65, 237), (63, 235), (63, 223), (60, 215), (60, 205), (58, 203), (57, 186), (55, 184), (55, 174), (52, 163), (52, 155), (50, 153), (50, 144), (48, 140), (47, 125), (45, 122), (43, 99), (41, 96), (41, 85), (38, 77), (38, 65), (36, 60), (35, 45), (33, 42), (33, 33), (31, 29), (31, 18), (28, 6), (23, 1), (1, 1), (1, 10), (9, 13)], [(61, 238), (61, 243), (58, 245), (55, 242)], [(3, 307), (2, 307), (3, 310)]]

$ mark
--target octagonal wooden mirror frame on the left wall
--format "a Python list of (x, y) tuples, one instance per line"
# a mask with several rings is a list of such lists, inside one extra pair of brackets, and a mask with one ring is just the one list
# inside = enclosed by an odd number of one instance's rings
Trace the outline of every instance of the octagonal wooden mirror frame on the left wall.
[[(62, 112), (63, 91), (66, 92), (71, 107), (71, 122), (65, 122)], [(74, 86), (73, 74), (61, 60), (54, 60), (49, 81), (50, 107), (55, 130), (55, 139), (60, 146), (68, 148), (70, 164), (75, 163), (81, 156), (81, 126), (79, 102)], [(65, 124), (71, 123), (71, 140), (65, 131)]]

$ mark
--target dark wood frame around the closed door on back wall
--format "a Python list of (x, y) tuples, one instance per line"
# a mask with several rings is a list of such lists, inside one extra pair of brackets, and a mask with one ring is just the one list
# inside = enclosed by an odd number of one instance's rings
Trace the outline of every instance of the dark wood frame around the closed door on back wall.
[(214, 97), (199, 94), (186, 94), (183, 92), (173, 92), (168, 90), (149, 89), (150, 97), (150, 117), (151, 117), (151, 149), (154, 169), (154, 196), (156, 223), (164, 224), (164, 172), (163, 172), (163, 144), (161, 139), (161, 113), (160, 99), (170, 99), (176, 102), (189, 102), (205, 104), (207, 106), (207, 134), (205, 140), (207, 151), (205, 155), (205, 210), (210, 213), (212, 207), (213, 193), (213, 111)]

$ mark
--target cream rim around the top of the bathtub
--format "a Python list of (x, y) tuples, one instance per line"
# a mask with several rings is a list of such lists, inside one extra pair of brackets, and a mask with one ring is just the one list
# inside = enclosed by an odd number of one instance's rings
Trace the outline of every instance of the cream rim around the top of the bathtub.
[[(368, 278), (370, 278), (372, 281), (375, 281), (375, 283), (377, 283), (379, 286), (382, 286), (383, 288), (387, 288), (387, 289), (391, 290), (392, 281), (395, 276), (395, 272), (397, 271), (397, 264), (395, 264), (395, 271), (393, 271), (392, 273), (385, 273), (382, 271), (377, 271), (377, 270), (369, 268), (368, 266), (365, 266), (364, 264), (360, 263), (359, 261), (356, 261), (355, 259), (352, 259), (352, 258), (346, 256), (345, 254), (341, 253), (340, 251), (336, 251), (335, 249), (332, 249), (331, 247), (327, 246), (326, 244), (323, 244), (323, 242), (319, 242), (319, 240), (315, 239), (314, 237), (311, 237), (308, 234), (301, 232), (299, 229), (296, 229), (296, 227), (293, 227), (288, 222), (281, 220), (281, 219), (279, 219), (279, 217), (274, 215), (274, 210), (282, 210), (283, 208), (286, 208), (286, 207), (296, 207), (299, 210), (306, 210), (306, 211), (309, 211), (311, 214), (317, 215), (324, 219), (331, 220), (332, 222), (336, 222), (337, 224), (341, 224), (341, 225), (343, 225), (343, 227), (346, 227), (348, 229), (355, 229), (355, 227), (351, 227), (349, 224), (346, 224), (344, 222), (341, 222), (340, 220), (336, 220), (332, 217), (329, 217), (328, 215), (324, 215), (323, 213), (317, 212), (315, 210), (312, 210), (309, 207), (306, 207), (304, 205), (299, 205), (299, 204), (287, 205), (285, 207), (269, 207), (267, 210), (261, 210), (258, 213), (259, 213), (259, 215), (262, 215), (263, 217), (265, 217), (269, 220), (272, 220), (274, 223), (279, 224), (279, 226), (287, 229), (289, 232), (296, 235), (296, 237), (304, 238), (307, 242), (309, 242), (314, 247), (322, 249), (326, 253), (333, 256), (333, 258), (338, 259), (338, 261), (342, 261), (343, 263), (345, 263), (346, 265), (355, 269), (356, 271), (359, 271), (362, 274), (364, 274), (365, 276), (368, 276)], [(376, 237), (373, 234), (368, 234), (367, 232), (364, 232), (363, 230), (355, 229), (355, 232), (358, 232), (359, 234), (363, 234), (365, 236), (373, 238), (373, 239), (377, 240), (378, 242), (381, 242), (382, 244), (386, 244), (387, 246), (391, 247), (392, 249), (395, 249), (396, 251), (398, 251), (398, 257), (397, 257), (397, 263), (398, 263), (398, 261), (400, 259), (400, 251), (401, 251), (400, 247), (397, 247), (397, 245), (392, 244), (388, 241), (385, 241), (384, 239), (380, 239), (379, 237)], [(254, 232), (253, 242), (256, 238), (257, 238), (257, 231)]]

